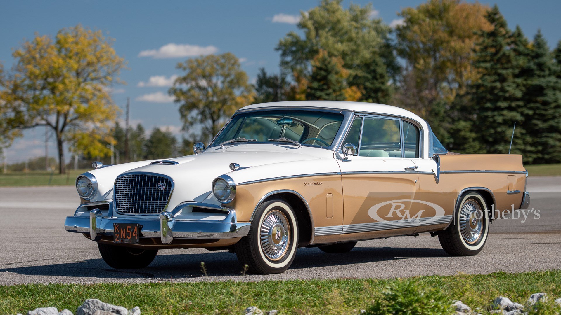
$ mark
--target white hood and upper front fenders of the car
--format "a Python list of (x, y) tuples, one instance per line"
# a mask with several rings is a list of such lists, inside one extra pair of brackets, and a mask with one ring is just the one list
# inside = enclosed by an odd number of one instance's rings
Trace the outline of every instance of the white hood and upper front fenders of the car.
[[(296, 146), (284, 144), (261, 145), (252, 143), (226, 146), (225, 148), (220, 148), (218, 146), (210, 147), (201, 154), (182, 156), (181, 158), (162, 159), (174, 161), (178, 164), (150, 164), (153, 161), (160, 161), (152, 160), (145, 161), (142, 165), (139, 164), (140, 162), (131, 163), (134, 164), (131, 166), (136, 167), (126, 170), (122, 168), (127, 164), (121, 164), (94, 170), (90, 173), (98, 178), (98, 182), (105, 182), (106, 188), (111, 186), (111, 191), (109, 191), (109, 189), (106, 189), (107, 192), (100, 191), (105, 200), (113, 198), (112, 183), (119, 175), (136, 172), (166, 175), (172, 178), (174, 182), (168, 208), (173, 209), (173, 207), (185, 201), (218, 203), (211, 194), (211, 185), (213, 180), (222, 174), (233, 175), (233, 173), (243, 173), (246, 169), (259, 168), (264, 169), (264, 172), (252, 172), (259, 173), (259, 175), (252, 175), (252, 177), (267, 178), (267, 170), (276, 169), (278, 172), (278, 169), (282, 168), (282, 166), (280, 166), (282, 163), (323, 159), (333, 160), (333, 151), (317, 147), (303, 146), (298, 148)], [(240, 169), (236, 172), (232, 172), (229, 169), (230, 163), (240, 164)], [(267, 167), (266, 165), (271, 166)], [(111, 170), (112, 168), (114, 168), (114, 170)], [(110, 173), (113, 174), (110, 175)]]

